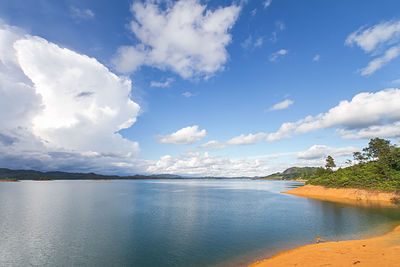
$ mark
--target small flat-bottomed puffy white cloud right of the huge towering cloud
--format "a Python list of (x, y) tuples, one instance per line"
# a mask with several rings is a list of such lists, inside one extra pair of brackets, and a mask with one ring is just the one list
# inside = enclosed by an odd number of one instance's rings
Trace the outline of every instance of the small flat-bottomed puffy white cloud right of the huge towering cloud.
[(199, 126), (193, 125), (182, 128), (172, 134), (156, 136), (161, 144), (190, 145), (206, 136), (206, 130), (199, 130)]

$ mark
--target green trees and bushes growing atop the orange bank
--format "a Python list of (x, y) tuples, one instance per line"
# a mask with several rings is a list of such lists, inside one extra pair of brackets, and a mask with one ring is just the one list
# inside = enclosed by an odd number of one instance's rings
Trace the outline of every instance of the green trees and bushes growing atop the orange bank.
[(380, 189), (400, 192), (400, 148), (389, 140), (374, 138), (361, 152), (353, 153), (355, 164), (336, 171), (331, 156), (325, 168), (317, 168), (309, 177), (308, 184), (327, 187)]

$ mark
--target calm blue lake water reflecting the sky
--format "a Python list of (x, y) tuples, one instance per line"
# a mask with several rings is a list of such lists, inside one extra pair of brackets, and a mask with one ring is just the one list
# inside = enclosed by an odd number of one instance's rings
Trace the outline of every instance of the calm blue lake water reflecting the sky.
[(390, 230), (360, 208), (250, 180), (0, 183), (1, 266), (243, 265), (280, 249)]

